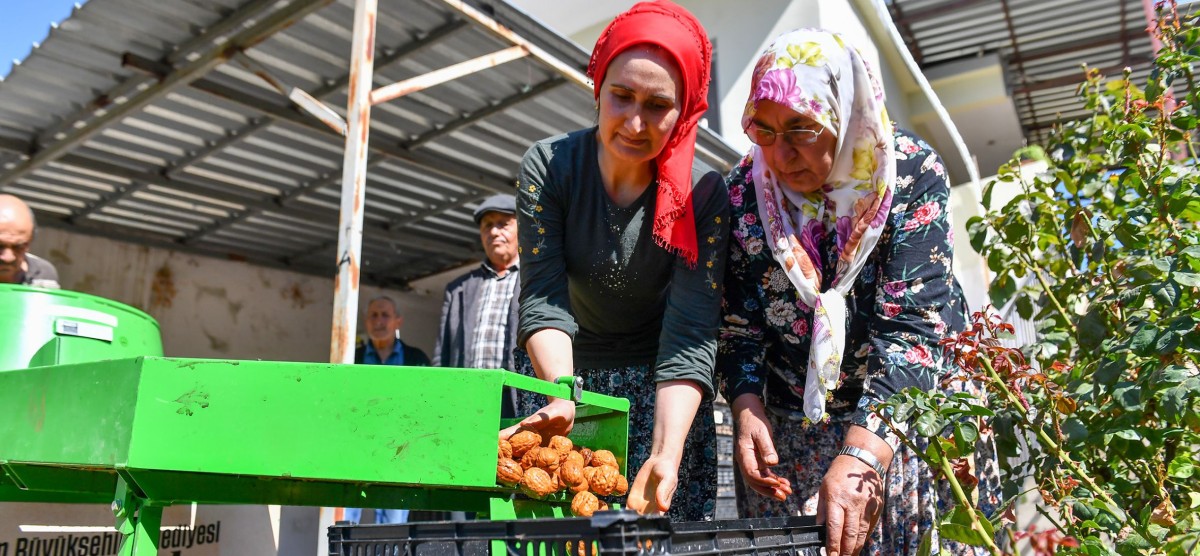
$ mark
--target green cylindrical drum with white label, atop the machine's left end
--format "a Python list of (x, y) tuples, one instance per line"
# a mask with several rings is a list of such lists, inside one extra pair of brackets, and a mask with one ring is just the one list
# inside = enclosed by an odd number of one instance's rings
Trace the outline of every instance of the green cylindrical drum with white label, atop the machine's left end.
[(158, 323), (128, 305), (0, 283), (0, 371), (162, 355)]

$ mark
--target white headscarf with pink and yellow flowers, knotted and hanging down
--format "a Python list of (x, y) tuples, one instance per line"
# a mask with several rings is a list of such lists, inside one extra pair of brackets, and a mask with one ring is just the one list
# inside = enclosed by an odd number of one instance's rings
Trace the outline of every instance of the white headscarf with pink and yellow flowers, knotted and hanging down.
[[(769, 100), (812, 118), (838, 138), (829, 178), (810, 195), (778, 183), (762, 148), (754, 145), (749, 154), (767, 244), (800, 300), (814, 309), (804, 414), (821, 420), (841, 377), (845, 297), (892, 207), (896, 177), (892, 120), (866, 61), (829, 31), (802, 29), (776, 38), (758, 59), (750, 91), (743, 127), (754, 119), (758, 101)], [(838, 268), (830, 288), (821, 292), (827, 269), (818, 249), (829, 233), (836, 234)]]

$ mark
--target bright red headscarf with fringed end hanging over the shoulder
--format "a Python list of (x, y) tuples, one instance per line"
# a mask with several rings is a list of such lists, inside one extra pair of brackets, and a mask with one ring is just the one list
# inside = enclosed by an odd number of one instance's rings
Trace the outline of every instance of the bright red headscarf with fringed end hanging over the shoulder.
[(595, 97), (608, 72), (608, 62), (637, 44), (654, 44), (679, 66), (683, 106), (667, 144), (655, 162), (659, 191), (654, 211), (654, 240), (667, 251), (696, 265), (696, 214), (691, 205), (691, 162), (696, 153), (696, 128), (708, 109), (708, 80), (713, 44), (700, 22), (668, 0), (638, 2), (617, 16), (600, 34), (588, 77)]

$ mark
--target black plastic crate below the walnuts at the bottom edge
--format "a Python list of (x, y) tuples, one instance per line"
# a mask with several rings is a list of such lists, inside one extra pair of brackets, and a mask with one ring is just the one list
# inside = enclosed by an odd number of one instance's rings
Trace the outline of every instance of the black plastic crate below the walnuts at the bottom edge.
[(636, 512), (592, 518), (440, 521), (329, 528), (330, 556), (790, 556), (816, 555), (824, 527), (814, 518), (672, 524)]

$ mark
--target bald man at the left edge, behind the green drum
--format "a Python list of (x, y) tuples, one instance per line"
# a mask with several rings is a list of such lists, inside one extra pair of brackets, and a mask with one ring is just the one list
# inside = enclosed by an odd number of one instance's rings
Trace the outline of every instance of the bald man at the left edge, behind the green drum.
[(37, 222), (34, 210), (11, 195), (0, 195), (0, 283), (59, 287), (59, 271), (29, 252)]

